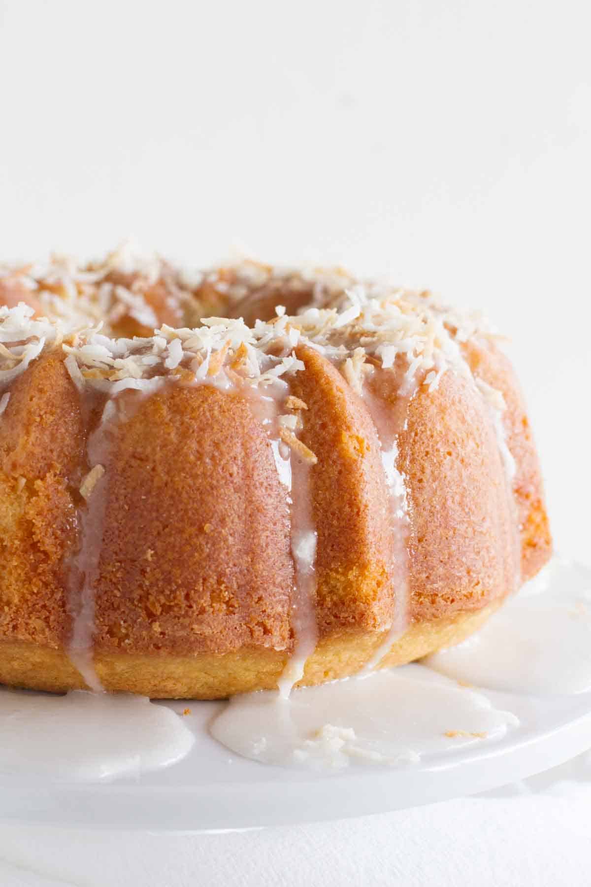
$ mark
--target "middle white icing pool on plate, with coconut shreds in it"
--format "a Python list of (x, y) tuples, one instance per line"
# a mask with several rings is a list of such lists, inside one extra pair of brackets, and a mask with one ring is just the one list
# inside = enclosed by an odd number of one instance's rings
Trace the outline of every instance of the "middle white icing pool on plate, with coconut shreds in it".
[(320, 687), (235, 696), (214, 719), (215, 739), (266, 764), (339, 769), (409, 765), (500, 739), (518, 720), (485, 696), (420, 665)]

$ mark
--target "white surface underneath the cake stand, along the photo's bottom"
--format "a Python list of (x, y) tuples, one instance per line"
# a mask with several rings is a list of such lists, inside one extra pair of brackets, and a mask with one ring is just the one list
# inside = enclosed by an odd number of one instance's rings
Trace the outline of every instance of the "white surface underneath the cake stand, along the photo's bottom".
[(589, 755), (481, 797), (296, 828), (0, 828), (2, 887), (587, 887), (590, 863)]

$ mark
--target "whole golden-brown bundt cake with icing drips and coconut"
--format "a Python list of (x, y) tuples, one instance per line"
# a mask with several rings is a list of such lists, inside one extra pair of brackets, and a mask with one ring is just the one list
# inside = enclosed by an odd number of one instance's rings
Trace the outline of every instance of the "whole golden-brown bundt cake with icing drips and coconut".
[(463, 640), (548, 560), (483, 322), (341, 269), (0, 268), (0, 683), (222, 698)]

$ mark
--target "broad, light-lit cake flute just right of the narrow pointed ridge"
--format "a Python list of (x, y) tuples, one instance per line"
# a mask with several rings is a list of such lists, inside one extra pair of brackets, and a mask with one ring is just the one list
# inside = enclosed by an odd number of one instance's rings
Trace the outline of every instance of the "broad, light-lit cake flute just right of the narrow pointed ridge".
[(485, 606), (513, 587), (513, 515), (486, 407), (469, 381), (446, 373), (419, 389), (400, 433), (411, 524), (416, 621)]

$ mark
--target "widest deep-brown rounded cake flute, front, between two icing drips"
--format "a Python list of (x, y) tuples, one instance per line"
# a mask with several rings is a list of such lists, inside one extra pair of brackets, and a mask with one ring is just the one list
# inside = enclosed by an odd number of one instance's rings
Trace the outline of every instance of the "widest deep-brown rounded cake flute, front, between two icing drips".
[(286, 495), (244, 397), (166, 387), (121, 426), (107, 475), (97, 648), (289, 647)]

